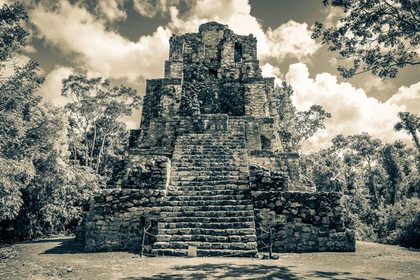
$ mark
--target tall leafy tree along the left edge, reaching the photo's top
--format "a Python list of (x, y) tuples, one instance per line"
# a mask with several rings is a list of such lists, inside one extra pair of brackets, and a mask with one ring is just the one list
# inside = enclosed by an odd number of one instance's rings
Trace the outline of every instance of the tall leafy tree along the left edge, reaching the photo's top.
[(33, 109), (41, 100), (34, 92), (44, 82), (37, 73), (38, 63), (30, 60), (21, 66), (16, 61), (28, 36), (21, 20), (27, 20), (22, 4), (5, 4), (0, 9), (0, 155), (9, 159), (22, 158), (31, 148), (24, 139)]

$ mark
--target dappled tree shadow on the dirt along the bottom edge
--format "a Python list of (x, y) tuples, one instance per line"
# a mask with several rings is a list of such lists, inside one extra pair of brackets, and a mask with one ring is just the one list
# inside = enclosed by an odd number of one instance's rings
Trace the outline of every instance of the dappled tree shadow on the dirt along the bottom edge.
[[(362, 280), (363, 278), (351, 277), (349, 272), (321, 272), (310, 271), (295, 273), (290, 270), (293, 267), (281, 267), (280, 265), (237, 265), (230, 264), (204, 264), (184, 265), (173, 267), (172, 272), (160, 273), (151, 277), (127, 277), (124, 280), (158, 280), (158, 279), (342, 279)], [(380, 279), (380, 278), (377, 278)]]

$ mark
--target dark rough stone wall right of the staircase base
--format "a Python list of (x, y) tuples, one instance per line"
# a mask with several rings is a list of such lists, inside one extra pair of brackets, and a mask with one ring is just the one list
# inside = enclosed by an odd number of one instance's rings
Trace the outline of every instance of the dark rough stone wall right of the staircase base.
[[(255, 228), (272, 228), (274, 252), (356, 250), (339, 193), (253, 191)], [(258, 240), (265, 241), (267, 235)]]

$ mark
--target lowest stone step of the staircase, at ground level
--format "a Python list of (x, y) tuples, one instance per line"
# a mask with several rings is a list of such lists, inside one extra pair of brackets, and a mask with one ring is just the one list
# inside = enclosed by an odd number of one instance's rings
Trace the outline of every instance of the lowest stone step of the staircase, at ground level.
[[(186, 257), (188, 255), (188, 249), (172, 249), (172, 248), (158, 248), (152, 249), (153, 255), (170, 255), (174, 257)], [(197, 249), (197, 257), (216, 257), (216, 256), (232, 256), (235, 258), (255, 258), (255, 255), (258, 254), (257, 250), (206, 250), (206, 249)]]

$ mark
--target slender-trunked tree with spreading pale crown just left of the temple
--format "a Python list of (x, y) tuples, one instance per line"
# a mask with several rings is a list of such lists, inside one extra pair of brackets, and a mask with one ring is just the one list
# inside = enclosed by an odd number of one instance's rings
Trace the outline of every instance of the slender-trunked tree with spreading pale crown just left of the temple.
[(139, 109), (141, 97), (131, 87), (111, 87), (109, 80), (88, 79), (83, 75), (71, 75), (62, 80), (62, 85), (62, 95), (71, 99), (66, 104), (71, 133), (83, 143), (85, 166), (93, 168), (96, 165), (94, 169), (98, 172), (106, 139), (118, 134), (123, 126), (120, 118), (130, 116), (133, 109)]

